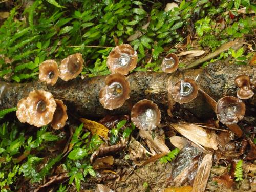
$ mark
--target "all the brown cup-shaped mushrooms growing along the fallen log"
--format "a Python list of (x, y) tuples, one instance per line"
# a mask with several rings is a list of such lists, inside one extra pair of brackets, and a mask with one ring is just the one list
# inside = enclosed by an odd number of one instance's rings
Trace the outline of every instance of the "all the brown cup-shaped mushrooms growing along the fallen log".
[[(112, 72), (105, 78), (105, 86), (99, 92), (99, 101), (103, 108), (114, 110), (130, 98), (130, 83), (125, 75), (137, 65), (137, 52), (129, 44), (116, 46), (109, 54), (106, 62)], [(58, 64), (54, 60), (46, 60), (39, 66), (39, 80), (53, 86), (58, 77), (68, 81), (77, 77), (83, 68), (84, 60), (80, 53), (68, 56)], [(179, 67), (179, 59), (174, 53), (169, 53), (162, 61), (162, 70), (173, 73)], [(239, 87), (236, 97), (225, 96), (216, 104), (217, 118), (223, 124), (237, 123), (244, 117), (245, 104), (241, 99), (253, 96), (256, 87), (255, 80), (250, 82), (247, 75), (240, 75), (234, 80)], [(168, 88), (169, 97), (180, 104), (188, 103), (197, 97), (199, 86), (194, 79), (182, 78)], [(67, 107), (61, 100), (54, 99), (50, 92), (34, 90), (28, 97), (19, 100), (16, 115), (20, 122), (27, 122), (40, 127), (49, 124), (53, 129), (60, 129), (68, 118)], [(131, 120), (138, 129), (153, 130), (161, 120), (158, 106), (147, 99), (137, 102), (131, 111)]]

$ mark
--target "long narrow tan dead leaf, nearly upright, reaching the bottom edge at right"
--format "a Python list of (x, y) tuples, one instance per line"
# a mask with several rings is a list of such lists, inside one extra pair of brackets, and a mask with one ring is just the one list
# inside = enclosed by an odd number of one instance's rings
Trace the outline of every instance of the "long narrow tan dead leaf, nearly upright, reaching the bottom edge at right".
[(210, 169), (212, 166), (212, 154), (206, 154), (202, 160), (202, 163), (197, 169), (197, 175), (193, 184), (193, 192), (203, 192), (205, 190), (209, 175)]

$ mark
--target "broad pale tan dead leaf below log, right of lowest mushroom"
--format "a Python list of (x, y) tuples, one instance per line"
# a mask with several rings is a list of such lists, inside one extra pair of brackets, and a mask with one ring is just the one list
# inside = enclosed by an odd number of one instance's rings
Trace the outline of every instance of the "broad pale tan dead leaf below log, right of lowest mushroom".
[(186, 123), (172, 123), (171, 125), (176, 131), (178, 131), (181, 135), (193, 143), (200, 144), (204, 147), (213, 148), (214, 150), (218, 149), (217, 141), (215, 141), (215, 138), (207, 134), (206, 130), (202, 127)]

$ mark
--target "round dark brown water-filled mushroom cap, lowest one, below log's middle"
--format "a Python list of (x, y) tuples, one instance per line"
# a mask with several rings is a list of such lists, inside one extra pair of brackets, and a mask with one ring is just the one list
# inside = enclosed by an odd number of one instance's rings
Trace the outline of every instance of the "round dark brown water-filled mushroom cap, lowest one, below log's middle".
[(133, 106), (131, 120), (140, 130), (153, 130), (161, 121), (161, 112), (154, 102), (144, 99)]

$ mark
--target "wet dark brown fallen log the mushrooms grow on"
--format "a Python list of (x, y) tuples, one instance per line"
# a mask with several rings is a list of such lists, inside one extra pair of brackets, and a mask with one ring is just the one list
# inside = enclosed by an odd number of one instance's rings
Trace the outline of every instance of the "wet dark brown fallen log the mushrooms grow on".
[[(241, 74), (247, 74), (255, 80), (256, 68), (250, 65), (229, 65), (218, 61), (211, 63), (205, 69), (177, 71), (173, 74), (134, 72), (127, 77), (131, 86), (130, 99), (126, 100), (121, 108), (113, 111), (104, 109), (98, 98), (99, 90), (104, 86), (105, 76), (83, 80), (76, 78), (68, 82), (58, 80), (55, 86), (47, 86), (45, 83), (38, 81), (27, 84), (1, 82), (0, 110), (16, 106), (18, 100), (26, 97), (34, 89), (44, 89), (51, 92), (55, 99), (63, 100), (68, 110), (74, 110), (82, 117), (130, 114), (132, 106), (145, 98), (155, 102), (161, 109), (162, 117), (164, 117), (168, 109), (169, 81), (173, 86), (182, 76), (197, 79), (199, 87), (217, 101), (226, 95), (236, 96), (237, 87), (234, 84), (234, 78)], [(246, 103), (255, 109), (256, 94)], [(199, 93), (196, 99), (187, 104), (176, 103), (174, 105), (174, 117), (184, 117), (187, 114), (193, 114), (200, 119), (207, 119), (214, 116), (214, 111), (205, 101), (203, 95)]]

